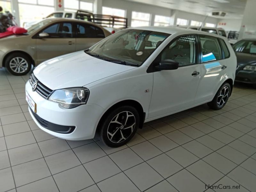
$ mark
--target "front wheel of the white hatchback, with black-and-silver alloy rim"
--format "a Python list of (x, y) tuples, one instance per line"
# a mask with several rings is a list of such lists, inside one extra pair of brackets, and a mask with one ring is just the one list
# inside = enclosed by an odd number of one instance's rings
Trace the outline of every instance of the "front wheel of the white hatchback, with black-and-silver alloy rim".
[(118, 107), (109, 112), (103, 120), (100, 140), (109, 147), (120, 147), (132, 139), (139, 127), (139, 122), (140, 116), (134, 107)]

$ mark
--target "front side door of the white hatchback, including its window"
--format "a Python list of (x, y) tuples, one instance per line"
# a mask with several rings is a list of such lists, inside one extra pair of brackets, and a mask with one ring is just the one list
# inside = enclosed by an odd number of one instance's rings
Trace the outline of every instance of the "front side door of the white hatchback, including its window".
[(160, 61), (172, 59), (179, 62), (179, 68), (153, 72), (149, 118), (194, 105), (201, 74), (198, 50), (195, 35), (181, 36), (165, 47), (153, 62), (153, 65), (159, 65)]

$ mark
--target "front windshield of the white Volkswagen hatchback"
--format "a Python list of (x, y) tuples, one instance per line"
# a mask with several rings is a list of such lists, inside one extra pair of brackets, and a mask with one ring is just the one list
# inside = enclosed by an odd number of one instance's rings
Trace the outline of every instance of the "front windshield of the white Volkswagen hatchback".
[(168, 36), (156, 31), (124, 29), (93, 45), (87, 53), (140, 66)]

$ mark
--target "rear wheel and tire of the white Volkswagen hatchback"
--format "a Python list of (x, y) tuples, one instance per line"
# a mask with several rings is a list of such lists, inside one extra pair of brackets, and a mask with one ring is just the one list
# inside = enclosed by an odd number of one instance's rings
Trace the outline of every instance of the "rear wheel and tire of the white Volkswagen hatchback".
[(230, 84), (224, 83), (223, 85), (221, 85), (220, 89), (217, 91), (213, 100), (207, 103), (207, 105), (214, 110), (222, 109), (228, 102), (230, 92), (231, 92)]

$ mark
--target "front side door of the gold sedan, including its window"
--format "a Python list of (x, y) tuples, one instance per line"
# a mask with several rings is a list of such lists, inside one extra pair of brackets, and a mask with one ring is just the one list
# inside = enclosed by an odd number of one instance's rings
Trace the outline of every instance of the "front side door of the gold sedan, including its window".
[[(39, 37), (39, 33), (47, 33), (46, 37)], [(73, 35), (71, 22), (54, 23), (36, 37), (37, 63), (76, 51), (76, 39)]]

